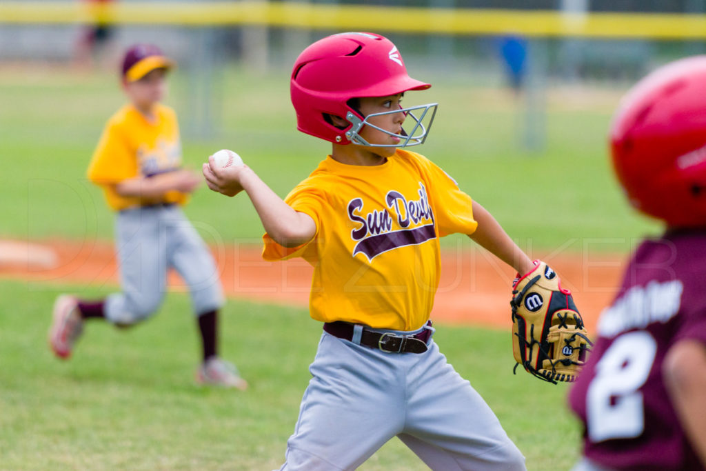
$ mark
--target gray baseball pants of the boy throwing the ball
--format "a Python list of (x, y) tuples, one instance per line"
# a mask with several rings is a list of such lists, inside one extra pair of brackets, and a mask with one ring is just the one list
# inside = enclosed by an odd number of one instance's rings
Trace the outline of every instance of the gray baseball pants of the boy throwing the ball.
[(280, 471), (354, 470), (393, 436), (432, 470), (525, 470), (493, 411), (433, 340), (424, 353), (397, 354), (323, 333), (309, 371)]

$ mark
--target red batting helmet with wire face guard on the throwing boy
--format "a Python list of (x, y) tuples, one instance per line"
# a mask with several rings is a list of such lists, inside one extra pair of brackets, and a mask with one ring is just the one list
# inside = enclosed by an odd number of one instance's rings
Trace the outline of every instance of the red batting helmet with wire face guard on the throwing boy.
[[(349, 100), (385, 97), (429, 87), (429, 83), (407, 75), (395, 44), (369, 32), (344, 32), (314, 42), (294, 62), (290, 82), (299, 131), (333, 143), (360, 145), (369, 145), (358, 136), (358, 131), (370, 124), (357, 109), (348, 105)], [(419, 119), (411, 113), (414, 109), (424, 110)], [(430, 117), (426, 116), (430, 110)], [(412, 116), (416, 124), (409, 133), (388, 132), (402, 139), (395, 147), (423, 143), (436, 113), (436, 103), (392, 112), (400, 111)], [(339, 129), (325, 119), (325, 114), (343, 117), (350, 125)], [(428, 119), (426, 128), (421, 124), (425, 117)]]

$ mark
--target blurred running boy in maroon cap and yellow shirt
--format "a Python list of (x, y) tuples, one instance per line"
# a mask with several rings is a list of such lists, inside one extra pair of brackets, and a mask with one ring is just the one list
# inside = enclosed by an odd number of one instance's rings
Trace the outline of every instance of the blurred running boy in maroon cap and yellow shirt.
[(59, 297), (49, 342), (58, 357), (68, 358), (85, 319), (116, 326), (144, 321), (162, 303), (167, 270), (174, 268), (189, 285), (201, 332), (198, 382), (244, 389), (235, 367), (218, 356), (224, 298), (215, 261), (181, 210), (201, 179), (181, 167), (177, 117), (160, 104), (172, 66), (149, 44), (133, 46), (124, 56), (122, 85), (129, 102), (109, 119), (88, 168), (88, 178), (116, 211), (122, 292), (100, 302)]

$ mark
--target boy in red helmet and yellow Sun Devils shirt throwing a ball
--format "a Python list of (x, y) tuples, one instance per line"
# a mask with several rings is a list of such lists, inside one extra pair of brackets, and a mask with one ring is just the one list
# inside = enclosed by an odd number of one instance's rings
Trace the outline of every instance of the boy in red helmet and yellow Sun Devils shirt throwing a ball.
[(385, 37), (325, 37), (291, 79), (299, 130), (333, 145), (309, 178), (282, 201), (245, 165), (203, 165), (210, 189), (251, 198), (264, 258), (314, 266), (311, 316), (324, 332), (282, 470), (353, 470), (393, 436), (434, 470), (525, 469), (432, 340), (439, 237), (472, 234), (520, 273), (534, 265), (448, 174), (405, 149), (424, 142), (436, 104), (400, 100), (430, 86)]

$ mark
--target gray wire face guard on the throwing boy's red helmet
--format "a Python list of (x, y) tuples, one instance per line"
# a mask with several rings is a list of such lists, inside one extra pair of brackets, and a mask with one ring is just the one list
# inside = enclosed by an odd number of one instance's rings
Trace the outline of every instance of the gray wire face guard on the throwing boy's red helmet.
[[(412, 145), (420, 145), (424, 144), (424, 141), (426, 141), (426, 136), (429, 136), (429, 130), (431, 129), (431, 124), (434, 121), (434, 117), (436, 116), (436, 107), (438, 107), (438, 103), (429, 103), (429, 105), (419, 105), (416, 107), (409, 107), (409, 108), (402, 108), (402, 109), (393, 109), (392, 111), (386, 111), (386, 112), (381, 112), (381, 113), (373, 113), (369, 114), (366, 116), (364, 119), (360, 119), (356, 114), (352, 112), (348, 112), (346, 114), (346, 121), (348, 121), (352, 126), (348, 131), (346, 131), (346, 138), (348, 141), (350, 141), (353, 144), (358, 144), (358, 145), (370, 145), (373, 147), (410, 147)], [(415, 110), (421, 110), (419, 114), (419, 118), (412, 113)], [(431, 114), (429, 113), (431, 111)], [(393, 113), (404, 113), (405, 118), (412, 117), (414, 120), (414, 127), (407, 132), (405, 131), (404, 128), (402, 128), (402, 133), (400, 134), (395, 134), (391, 133), (390, 131), (387, 131), (386, 129), (382, 129), (381, 127), (375, 126), (374, 124), (371, 124), (370, 121), (368, 121), (372, 117), (376, 116), (383, 116), (384, 114), (393, 114)], [(406, 119), (405, 119), (406, 121)], [(426, 126), (425, 124), (426, 123)], [(381, 131), (388, 136), (393, 136), (395, 138), (400, 139), (400, 143), (397, 144), (371, 144), (368, 141), (366, 141), (364, 138), (362, 138), (359, 134), (361, 129), (363, 129), (364, 126), (370, 126), (373, 129), (377, 129), (378, 131)]]

